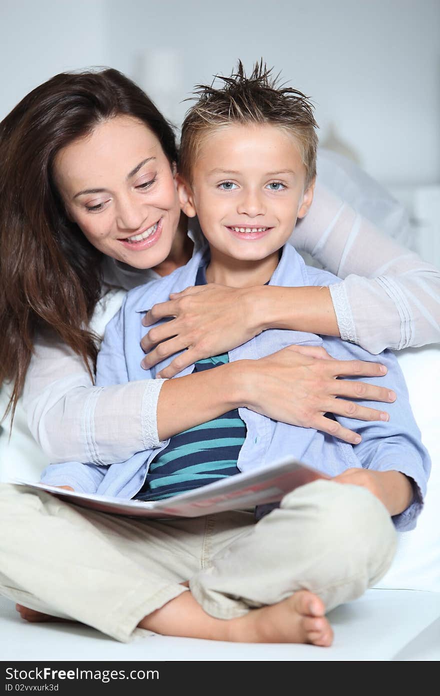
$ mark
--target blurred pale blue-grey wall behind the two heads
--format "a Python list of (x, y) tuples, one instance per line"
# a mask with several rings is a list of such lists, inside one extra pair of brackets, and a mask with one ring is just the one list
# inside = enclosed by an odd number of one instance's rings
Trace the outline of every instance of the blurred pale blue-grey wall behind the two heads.
[(321, 144), (440, 219), (439, 34), (440, 0), (0, 0), (0, 117), (56, 72), (111, 65), (179, 125), (194, 84), (262, 56), (313, 99)]

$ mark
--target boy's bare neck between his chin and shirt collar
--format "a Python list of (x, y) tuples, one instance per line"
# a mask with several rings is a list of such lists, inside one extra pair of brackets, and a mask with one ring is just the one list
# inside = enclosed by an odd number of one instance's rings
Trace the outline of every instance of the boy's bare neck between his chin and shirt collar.
[(229, 287), (265, 285), (279, 262), (279, 250), (258, 261), (243, 261), (226, 256), (211, 246), (211, 261), (206, 268), (206, 281)]

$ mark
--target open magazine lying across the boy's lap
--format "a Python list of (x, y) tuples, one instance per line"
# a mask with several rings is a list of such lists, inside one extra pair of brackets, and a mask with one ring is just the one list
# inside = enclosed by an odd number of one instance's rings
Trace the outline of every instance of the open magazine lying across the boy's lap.
[(317, 479), (329, 478), (296, 459), (283, 459), (265, 468), (247, 471), (193, 491), (179, 493), (164, 500), (124, 500), (96, 493), (74, 493), (42, 483), (15, 480), (13, 483), (38, 488), (70, 503), (131, 517), (199, 517), (226, 510), (249, 509), (275, 503), (286, 493)]

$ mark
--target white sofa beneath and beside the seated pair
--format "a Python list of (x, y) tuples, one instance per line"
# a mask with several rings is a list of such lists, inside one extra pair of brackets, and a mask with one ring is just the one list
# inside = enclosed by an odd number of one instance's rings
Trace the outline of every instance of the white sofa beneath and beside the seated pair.
[[(1, 657), (34, 660), (439, 660), (440, 659), (440, 445), (437, 395), (440, 347), (398, 354), (423, 441), (432, 457), (425, 509), (416, 530), (400, 536), (396, 560), (377, 588), (329, 614), (331, 648), (286, 644), (229, 644), (189, 638), (145, 636), (120, 644), (87, 626), (26, 624), (13, 603), (0, 598)], [(1, 405), (1, 404), (0, 404)], [(46, 461), (17, 413), (13, 438), (0, 434), (0, 477), (38, 480)], [(195, 645), (195, 643), (197, 643)]]

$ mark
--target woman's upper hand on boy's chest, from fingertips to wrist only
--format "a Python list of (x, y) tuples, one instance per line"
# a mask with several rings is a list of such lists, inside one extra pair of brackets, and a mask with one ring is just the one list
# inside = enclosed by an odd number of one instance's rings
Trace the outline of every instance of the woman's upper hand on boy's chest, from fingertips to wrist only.
[(254, 338), (263, 326), (256, 321), (252, 290), (215, 283), (197, 285), (171, 294), (168, 302), (154, 305), (142, 319), (144, 326), (165, 317), (174, 319), (154, 326), (142, 338), (140, 345), (147, 353), (142, 367), (148, 369), (183, 350), (157, 375), (174, 377), (198, 360), (226, 353)]

